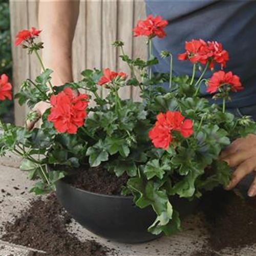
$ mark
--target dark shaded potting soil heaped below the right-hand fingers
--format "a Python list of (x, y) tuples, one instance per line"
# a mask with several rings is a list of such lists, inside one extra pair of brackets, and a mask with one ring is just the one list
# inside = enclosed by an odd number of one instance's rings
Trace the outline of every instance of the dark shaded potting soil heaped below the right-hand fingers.
[[(236, 251), (256, 244), (256, 198), (245, 200), (232, 191), (218, 188), (203, 196), (201, 209), (209, 231), (207, 247), (212, 251), (227, 247)], [(215, 255), (208, 253), (197, 256)]]

